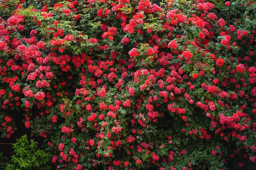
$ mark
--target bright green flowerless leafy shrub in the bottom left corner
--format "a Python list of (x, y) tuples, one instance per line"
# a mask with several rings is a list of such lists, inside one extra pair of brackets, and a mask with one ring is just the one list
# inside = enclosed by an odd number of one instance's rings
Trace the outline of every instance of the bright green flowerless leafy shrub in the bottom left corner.
[(44, 150), (37, 149), (37, 142), (27, 140), (27, 135), (23, 135), (13, 144), (14, 155), (5, 170), (49, 170), (51, 155)]

